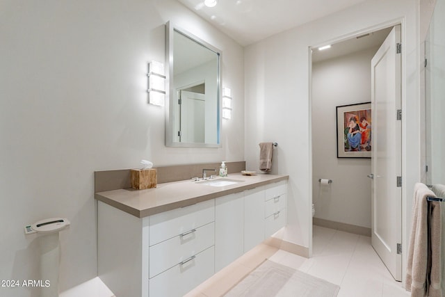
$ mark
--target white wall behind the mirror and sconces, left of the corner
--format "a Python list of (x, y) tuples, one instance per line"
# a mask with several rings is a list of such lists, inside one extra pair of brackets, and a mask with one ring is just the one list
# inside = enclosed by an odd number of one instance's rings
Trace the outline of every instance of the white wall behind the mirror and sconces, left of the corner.
[[(165, 60), (168, 20), (223, 51), (234, 112), (221, 148), (164, 146), (146, 74)], [(95, 170), (244, 159), (243, 48), (177, 1), (3, 0), (0, 28), (1, 280), (39, 278), (23, 227), (53, 216), (72, 223), (60, 234), (60, 289), (97, 275)]]

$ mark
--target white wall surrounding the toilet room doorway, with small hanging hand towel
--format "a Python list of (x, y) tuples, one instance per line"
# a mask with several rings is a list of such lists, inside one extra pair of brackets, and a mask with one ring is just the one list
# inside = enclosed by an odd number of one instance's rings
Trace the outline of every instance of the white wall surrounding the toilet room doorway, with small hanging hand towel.
[[(312, 145), (309, 47), (403, 22), (403, 243), (412, 188), (419, 181), (419, 1), (370, 0), (274, 35), (245, 49), (245, 156), (257, 168), (258, 145), (277, 141), (273, 172), (289, 174), (284, 239), (312, 248)], [(407, 133), (406, 131), (409, 131)], [(312, 134), (312, 135), (311, 135)], [(408, 145), (409, 144), (409, 145)], [(405, 257), (405, 255), (404, 255)]]

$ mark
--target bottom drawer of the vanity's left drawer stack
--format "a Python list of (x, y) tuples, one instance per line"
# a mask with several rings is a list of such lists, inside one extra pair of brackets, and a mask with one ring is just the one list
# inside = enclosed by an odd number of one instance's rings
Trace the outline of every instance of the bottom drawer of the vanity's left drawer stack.
[(213, 246), (149, 280), (149, 296), (184, 296), (215, 273)]

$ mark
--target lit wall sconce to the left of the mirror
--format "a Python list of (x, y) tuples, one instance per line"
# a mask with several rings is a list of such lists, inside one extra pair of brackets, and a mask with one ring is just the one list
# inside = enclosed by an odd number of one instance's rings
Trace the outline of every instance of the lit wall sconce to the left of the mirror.
[(165, 104), (165, 74), (163, 63), (152, 61), (148, 63), (148, 103), (164, 106)]

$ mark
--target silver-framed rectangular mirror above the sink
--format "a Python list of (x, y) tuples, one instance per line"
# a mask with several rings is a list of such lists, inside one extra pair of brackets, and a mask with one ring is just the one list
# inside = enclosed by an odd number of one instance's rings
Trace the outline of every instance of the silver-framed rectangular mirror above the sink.
[(221, 51), (171, 22), (165, 40), (165, 145), (220, 147)]

